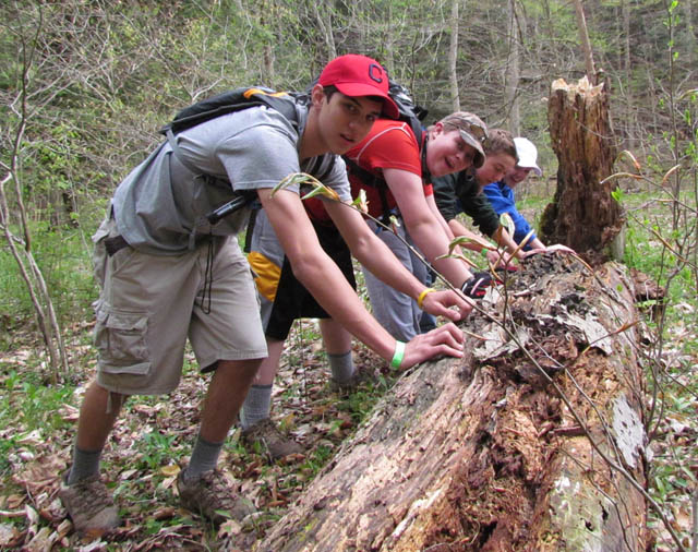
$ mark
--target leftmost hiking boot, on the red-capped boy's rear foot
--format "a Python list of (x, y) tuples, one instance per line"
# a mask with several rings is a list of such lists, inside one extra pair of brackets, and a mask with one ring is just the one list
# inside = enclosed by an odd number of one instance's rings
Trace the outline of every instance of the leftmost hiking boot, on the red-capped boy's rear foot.
[(75, 530), (84, 536), (100, 537), (121, 524), (119, 508), (99, 476), (88, 477), (72, 485), (61, 481), (58, 495), (63, 502)]

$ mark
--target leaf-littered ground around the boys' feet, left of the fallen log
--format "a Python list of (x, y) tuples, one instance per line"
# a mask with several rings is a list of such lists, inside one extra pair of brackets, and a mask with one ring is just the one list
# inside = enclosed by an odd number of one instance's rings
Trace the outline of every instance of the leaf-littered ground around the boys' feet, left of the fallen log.
[[(270, 463), (263, 451), (245, 449), (233, 428), (219, 467), (240, 494), (256, 507), (244, 526), (212, 527), (180, 507), (176, 479), (185, 465), (198, 428), (208, 376), (198, 374), (188, 352), (182, 381), (168, 396), (132, 397), (103, 455), (108, 482), (123, 519), (109, 537), (81, 540), (58, 499), (60, 477), (70, 464), (82, 395), (94, 373), (91, 327), (69, 345), (71, 365), (80, 370), (59, 385), (40, 382), (25, 365), (39, 344), (0, 357), (0, 386), (8, 389), (4, 415), (14, 421), (0, 429), (0, 549), (22, 550), (249, 550), (261, 539), (306, 483), (335, 454), (396, 374), (364, 347), (354, 348), (357, 368), (370, 372), (354, 392), (338, 394), (313, 321), (296, 323), (274, 387), (273, 419), (302, 443), (305, 453)], [(62, 391), (62, 392), (61, 392)]]

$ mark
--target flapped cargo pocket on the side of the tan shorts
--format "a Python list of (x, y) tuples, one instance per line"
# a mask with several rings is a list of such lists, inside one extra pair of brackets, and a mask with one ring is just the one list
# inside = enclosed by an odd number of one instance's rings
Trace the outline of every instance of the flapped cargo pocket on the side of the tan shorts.
[(101, 370), (111, 374), (146, 375), (151, 371), (147, 328), (145, 313), (123, 312), (99, 304), (95, 346), (99, 350)]

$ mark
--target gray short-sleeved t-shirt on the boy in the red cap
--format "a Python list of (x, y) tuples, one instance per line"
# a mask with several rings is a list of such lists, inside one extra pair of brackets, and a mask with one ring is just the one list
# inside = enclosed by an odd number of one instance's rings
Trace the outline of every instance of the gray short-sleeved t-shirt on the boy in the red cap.
[[(248, 220), (243, 208), (215, 226), (205, 215), (234, 197), (234, 191), (274, 188), (299, 165), (298, 145), (308, 107), (297, 105), (299, 132), (278, 111), (251, 107), (212, 119), (177, 135), (180, 155), (166, 141), (117, 188), (112, 199), (117, 227), (130, 245), (152, 254), (180, 254), (206, 236), (239, 232)], [(330, 156), (327, 156), (330, 157)], [(344, 201), (351, 192), (344, 160), (335, 156), (324, 179)], [(299, 192), (298, 185), (287, 190)]]

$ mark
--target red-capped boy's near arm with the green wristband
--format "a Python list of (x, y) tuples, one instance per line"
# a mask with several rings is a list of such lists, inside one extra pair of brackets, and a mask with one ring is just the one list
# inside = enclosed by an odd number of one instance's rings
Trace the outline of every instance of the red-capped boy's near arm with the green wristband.
[[(270, 189), (257, 190), (293, 275), (334, 320), (390, 361), (396, 340), (369, 314), (341, 271), (323, 251), (298, 194), (281, 190), (270, 197)], [(453, 324), (445, 324), (418, 336), (407, 344), (400, 367), (408, 368), (435, 355), (462, 357), (462, 332)]]

